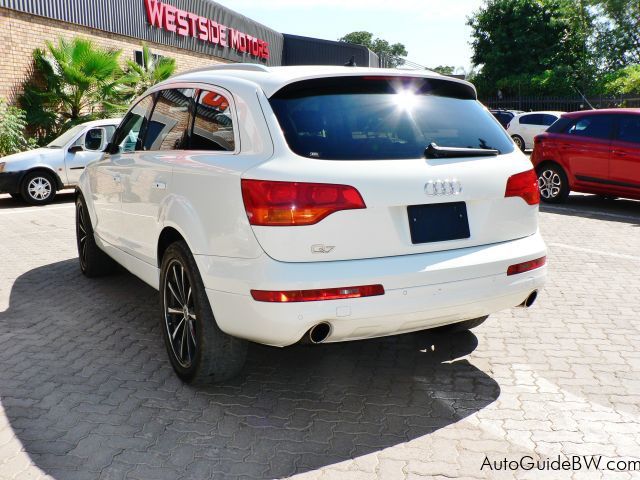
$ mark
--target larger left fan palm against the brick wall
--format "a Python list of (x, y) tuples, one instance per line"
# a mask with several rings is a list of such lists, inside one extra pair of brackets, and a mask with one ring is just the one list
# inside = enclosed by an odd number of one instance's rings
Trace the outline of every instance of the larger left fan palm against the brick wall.
[(34, 75), (24, 85), (20, 105), (41, 142), (122, 111), (126, 92), (120, 54), (81, 38), (48, 42), (46, 50), (33, 52)]

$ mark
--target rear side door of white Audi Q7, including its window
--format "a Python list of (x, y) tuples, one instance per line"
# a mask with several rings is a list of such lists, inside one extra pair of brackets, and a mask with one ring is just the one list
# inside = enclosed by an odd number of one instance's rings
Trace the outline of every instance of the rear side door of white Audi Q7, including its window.
[(121, 170), (124, 250), (150, 264), (155, 264), (160, 208), (173, 165), (188, 153), (193, 94), (193, 89), (157, 93), (143, 147)]

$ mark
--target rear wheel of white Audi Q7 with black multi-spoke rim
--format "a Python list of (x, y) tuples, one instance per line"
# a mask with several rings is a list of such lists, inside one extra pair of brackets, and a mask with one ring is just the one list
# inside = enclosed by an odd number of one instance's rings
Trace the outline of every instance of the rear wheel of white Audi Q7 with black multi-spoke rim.
[(171, 244), (162, 258), (160, 306), (165, 347), (180, 379), (216, 383), (240, 373), (248, 342), (218, 327), (196, 262), (183, 241)]

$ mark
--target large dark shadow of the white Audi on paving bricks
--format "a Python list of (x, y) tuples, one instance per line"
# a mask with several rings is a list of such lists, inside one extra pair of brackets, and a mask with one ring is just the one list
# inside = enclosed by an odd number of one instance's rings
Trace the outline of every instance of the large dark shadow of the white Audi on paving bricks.
[(35, 465), (59, 480), (278, 478), (429, 435), (500, 394), (460, 359), (471, 332), (252, 344), (242, 375), (197, 387), (160, 332), (157, 292), (128, 273), (87, 279), (72, 259), (16, 279), (0, 397)]

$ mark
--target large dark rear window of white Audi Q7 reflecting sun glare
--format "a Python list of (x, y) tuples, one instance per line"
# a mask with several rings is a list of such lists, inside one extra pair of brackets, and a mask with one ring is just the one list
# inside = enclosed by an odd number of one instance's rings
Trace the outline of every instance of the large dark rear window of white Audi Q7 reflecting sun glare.
[(270, 103), (291, 150), (308, 158), (422, 158), (431, 143), (513, 151), (473, 90), (447, 80), (315, 79), (283, 88)]

